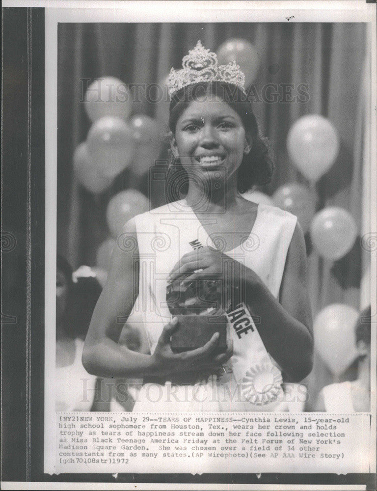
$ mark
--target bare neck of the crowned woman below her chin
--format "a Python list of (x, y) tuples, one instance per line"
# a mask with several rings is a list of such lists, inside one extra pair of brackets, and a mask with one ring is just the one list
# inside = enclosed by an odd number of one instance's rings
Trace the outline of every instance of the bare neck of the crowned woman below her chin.
[(195, 213), (224, 213), (232, 208), (236, 203), (237, 174), (232, 174), (227, 181), (222, 182), (218, 179), (220, 187), (215, 188), (215, 178), (207, 181), (207, 186), (201, 183), (200, 177), (197, 180), (189, 179), (188, 193), (186, 201)]

